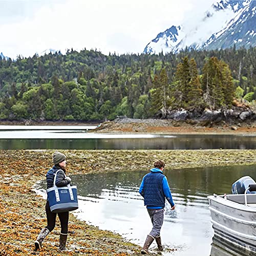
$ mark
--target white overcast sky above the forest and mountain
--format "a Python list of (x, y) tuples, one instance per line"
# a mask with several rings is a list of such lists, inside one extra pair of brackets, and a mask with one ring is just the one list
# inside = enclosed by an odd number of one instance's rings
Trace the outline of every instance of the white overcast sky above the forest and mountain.
[(158, 33), (215, 0), (0, 0), (0, 53), (141, 53)]

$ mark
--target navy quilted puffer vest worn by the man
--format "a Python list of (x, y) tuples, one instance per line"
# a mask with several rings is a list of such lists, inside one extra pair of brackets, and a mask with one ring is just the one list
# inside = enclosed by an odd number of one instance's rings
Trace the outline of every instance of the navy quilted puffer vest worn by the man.
[(161, 172), (151, 172), (144, 176), (144, 205), (165, 206), (165, 197), (162, 185), (163, 178), (164, 175)]

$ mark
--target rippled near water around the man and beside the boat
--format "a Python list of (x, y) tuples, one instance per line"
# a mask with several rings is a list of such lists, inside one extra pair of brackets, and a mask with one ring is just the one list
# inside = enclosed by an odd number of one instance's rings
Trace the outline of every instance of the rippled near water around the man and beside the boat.
[[(71, 177), (79, 195), (79, 209), (74, 214), (100, 229), (118, 232), (124, 238), (143, 245), (146, 234), (152, 228), (143, 199), (138, 193), (141, 179), (146, 173), (146, 170), (141, 170)], [(214, 193), (230, 194), (232, 183), (243, 176), (256, 180), (256, 165), (165, 170), (164, 174), (170, 184), (176, 209), (171, 211), (166, 203), (161, 230), (166, 248), (163, 254), (231, 255), (211, 245), (214, 231), (206, 197)], [(45, 188), (46, 182), (39, 181), (35, 187)], [(171, 252), (168, 248), (176, 248), (177, 251)], [(152, 249), (156, 250), (155, 242)]]

